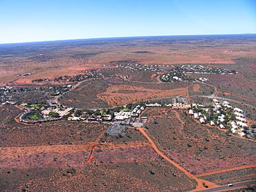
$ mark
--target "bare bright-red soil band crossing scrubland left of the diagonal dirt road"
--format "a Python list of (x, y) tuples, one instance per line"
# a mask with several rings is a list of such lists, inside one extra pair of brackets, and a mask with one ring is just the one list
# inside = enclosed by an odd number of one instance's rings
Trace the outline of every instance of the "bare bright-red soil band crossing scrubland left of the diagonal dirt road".
[[(145, 159), (153, 160), (155, 157), (154, 151), (145, 142), (129, 144), (93, 142), (86, 145), (2, 147), (0, 148), (0, 168), (54, 167), (58, 163), (58, 166), (65, 166), (68, 163), (74, 167), (80, 167), (88, 163), (91, 150), (93, 150), (93, 158), (90, 162), (99, 164), (134, 162), (134, 160), (143, 162)], [(140, 153), (141, 151), (143, 153)], [(125, 155), (127, 153), (129, 157)]]

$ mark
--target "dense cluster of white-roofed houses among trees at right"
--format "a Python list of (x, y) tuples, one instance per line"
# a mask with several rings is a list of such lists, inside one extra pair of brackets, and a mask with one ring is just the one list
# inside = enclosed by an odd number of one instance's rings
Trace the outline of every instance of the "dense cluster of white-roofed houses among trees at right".
[(201, 124), (209, 123), (212, 126), (226, 128), (240, 136), (246, 136), (245, 129), (248, 128), (248, 124), (244, 111), (237, 107), (233, 108), (227, 101), (221, 103), (217, 99), (212, 99), (212, 102), (212, 107), (192, 104), (188, 113)]

